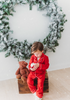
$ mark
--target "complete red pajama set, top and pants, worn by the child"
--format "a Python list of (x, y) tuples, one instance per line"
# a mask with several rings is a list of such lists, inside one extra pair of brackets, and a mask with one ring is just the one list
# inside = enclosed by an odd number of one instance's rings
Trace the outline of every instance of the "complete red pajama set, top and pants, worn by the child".
[[(31, 63), (39, 63), (39, 67), (35, 71), (31, 71)], [(49, 68), (49, 59), (44, 53), (42, 53), (40, 59), (37, 61), (37, 57), (32, 55), (29, 61), (29, 75), (27, 78), (27, 84), (32, 93), (36, 92), (39, 98), (43, 96), (43, 85), (45, 80), (46, 69)], [(34, 86), (34, 79), (37, 78), (37, 87)]]

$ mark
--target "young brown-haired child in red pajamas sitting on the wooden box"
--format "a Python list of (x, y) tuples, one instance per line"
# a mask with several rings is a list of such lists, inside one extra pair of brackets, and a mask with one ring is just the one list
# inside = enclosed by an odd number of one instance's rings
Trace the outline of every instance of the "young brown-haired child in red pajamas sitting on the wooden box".
[[(29, 75), (27, 84), (30, 91), (35, 95), (35, 100), (42, 100), (43, 85), (45, 80), (46, 69), (49, 67), (49, 59), (43, 53), (43, 44), (41, 42), (34, 42), (31, 47), (33, 54), (29, 61)], [(34, 86), (34, 79), (37, 78), (37, 87)]]

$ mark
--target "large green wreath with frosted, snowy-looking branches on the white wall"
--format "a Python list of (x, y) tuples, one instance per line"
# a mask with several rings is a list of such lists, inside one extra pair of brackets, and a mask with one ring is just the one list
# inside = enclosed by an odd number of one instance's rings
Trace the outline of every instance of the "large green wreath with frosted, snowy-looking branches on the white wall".
[[(14, 10), (16, 4), (29, 3), (29, 9), (32, 10), (33, 5), (38, 5), (38, 10), (47, 10), (46, 16), (49, 16), (51, 23), (49, 24), (49, 34), (42, 41), (44, 45), (44, 53), (51, 50), (55, 52), (55, 47), (59, 45), (58, 39), (61, 38), (61, 32), (63, 32), (65, 14), (62, 12), (62, 8), (57, 5), (56, 0), (0, 0), (0, 52), (7, 51), (5, 57), (14, 55), (18, 60), (29, 59), (31, 57), (32, 43), (28, 43), (27, 40), (19, 42), (17, 39), (10, 38), (10, 34), (13, 33), (9, 27), (9, 18), (6, 15), (12, 15), (11, 11)], [(40, 41), (40, 40), (39, 40)]]

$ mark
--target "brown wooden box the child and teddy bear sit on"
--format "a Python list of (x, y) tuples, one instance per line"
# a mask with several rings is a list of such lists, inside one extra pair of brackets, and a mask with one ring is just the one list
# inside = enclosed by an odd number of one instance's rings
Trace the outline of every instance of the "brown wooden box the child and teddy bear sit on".
[[(34, 85), (37, 85), (37, 80), (34, 81)], [(23, 81), (21, 79), (18, 79), (18, 89), (19, 89), (19, 93), (23, 94), (23, 93), (31, 93), (27, 82), (23, 83)], [(49, 82), (48, 82), (48, 74), (46, 71), (45, 74), (45, 81), (44, 81), (44, 88), (43, 88), (44, 93), (49, 92)]]

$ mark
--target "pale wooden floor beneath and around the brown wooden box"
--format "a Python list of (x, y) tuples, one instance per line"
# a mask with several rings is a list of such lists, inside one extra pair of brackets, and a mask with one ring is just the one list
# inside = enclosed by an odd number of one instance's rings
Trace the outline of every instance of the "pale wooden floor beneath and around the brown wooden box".
[[(50, 71), (49, 93), (43, 100), (70, 100), (70, 68)], [(19, 94), (17, 79), (0, 82), (0, 100), (35, 100), (32, 93)]]

